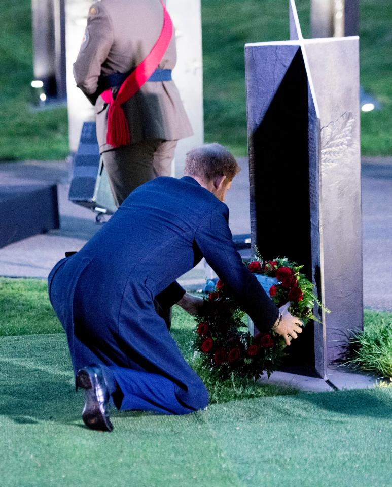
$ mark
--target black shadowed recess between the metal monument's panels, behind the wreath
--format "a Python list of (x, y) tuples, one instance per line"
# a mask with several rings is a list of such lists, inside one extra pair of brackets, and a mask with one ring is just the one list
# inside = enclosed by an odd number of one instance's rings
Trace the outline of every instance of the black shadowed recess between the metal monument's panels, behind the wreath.
[[(300, 49), (252, 139), (255, 201), (251, 219), (257, 215), (256, 246), (264, 258), (286, 256), (303, 264), (311, 280), (308, 92)], [(313, 341), (309, 323), (287, 348), (285, 364), (314, 364)]]

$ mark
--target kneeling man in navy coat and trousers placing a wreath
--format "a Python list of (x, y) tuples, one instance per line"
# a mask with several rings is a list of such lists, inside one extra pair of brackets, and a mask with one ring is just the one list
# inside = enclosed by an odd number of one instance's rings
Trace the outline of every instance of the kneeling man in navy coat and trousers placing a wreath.
[(85, 424), (112, 431), (109, 399), (120, 410), (187, 414), (208, 404), (203, 382), (155, 311), (178, 304), (196, 314), (202, 299), (175, 279), (202, 257), (261, 331), (290, 344), (298, 319), (272, 303), (235, 250), (223, 203), (239, 171), (219, 144), (187, 154), (182, 179), (158, 177), (135, 189), (112, 218), (49, 275), (49, 297), (65, 329), (85, 389)]

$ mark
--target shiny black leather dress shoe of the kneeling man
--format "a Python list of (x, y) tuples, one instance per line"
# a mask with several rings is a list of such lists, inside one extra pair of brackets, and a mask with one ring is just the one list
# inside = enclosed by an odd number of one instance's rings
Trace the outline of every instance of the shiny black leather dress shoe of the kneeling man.
[(91, 430), (112, 431), (109, 419), (109, 392), (99, 365), (90, 365), (78, 370), (76, 388), (84, 389), (85, 403), (82, 419)]

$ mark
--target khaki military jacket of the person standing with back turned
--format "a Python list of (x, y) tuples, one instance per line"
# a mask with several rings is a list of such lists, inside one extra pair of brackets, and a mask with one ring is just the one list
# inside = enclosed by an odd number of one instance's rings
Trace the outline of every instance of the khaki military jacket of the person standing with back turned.
[[(98, 80), (135, 68), (151, 51), (162, 26), (163, 9), (159, 0), (100, 0), (89, 10), (74, 76), (77, 86), (95, 104), (100, 152), (112, 147), (106, 144), (108, 105), (97, 96)], [(173, 31), (159, 68), (173, 69), (175, 62)], [(131, 143), (148, 139), (177, 140), (193, 133), (174, 81), (148, 81), (122, 107)]]

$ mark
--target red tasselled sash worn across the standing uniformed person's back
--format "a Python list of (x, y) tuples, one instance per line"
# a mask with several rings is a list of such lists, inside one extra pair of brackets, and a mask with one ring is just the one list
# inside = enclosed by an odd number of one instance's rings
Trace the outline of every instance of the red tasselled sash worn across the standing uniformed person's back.
[(119, 147), (120, 145), (130, 143), (128, 122), (121, 105), (132, 98), (132, 96), (146, 83), (158, 68), (171, 41), (173, 24), (162, 0), (160, 0), (160, 2), (164, 12), (163, 27), (154, 47), (151, 49), (146, 59), (141, 61), (122, 83), (116, 99), (113, 98), (111, 88), (103, 91), (101, 94), (104, 102), (109, 104), (106, 143), (113, 147)]

